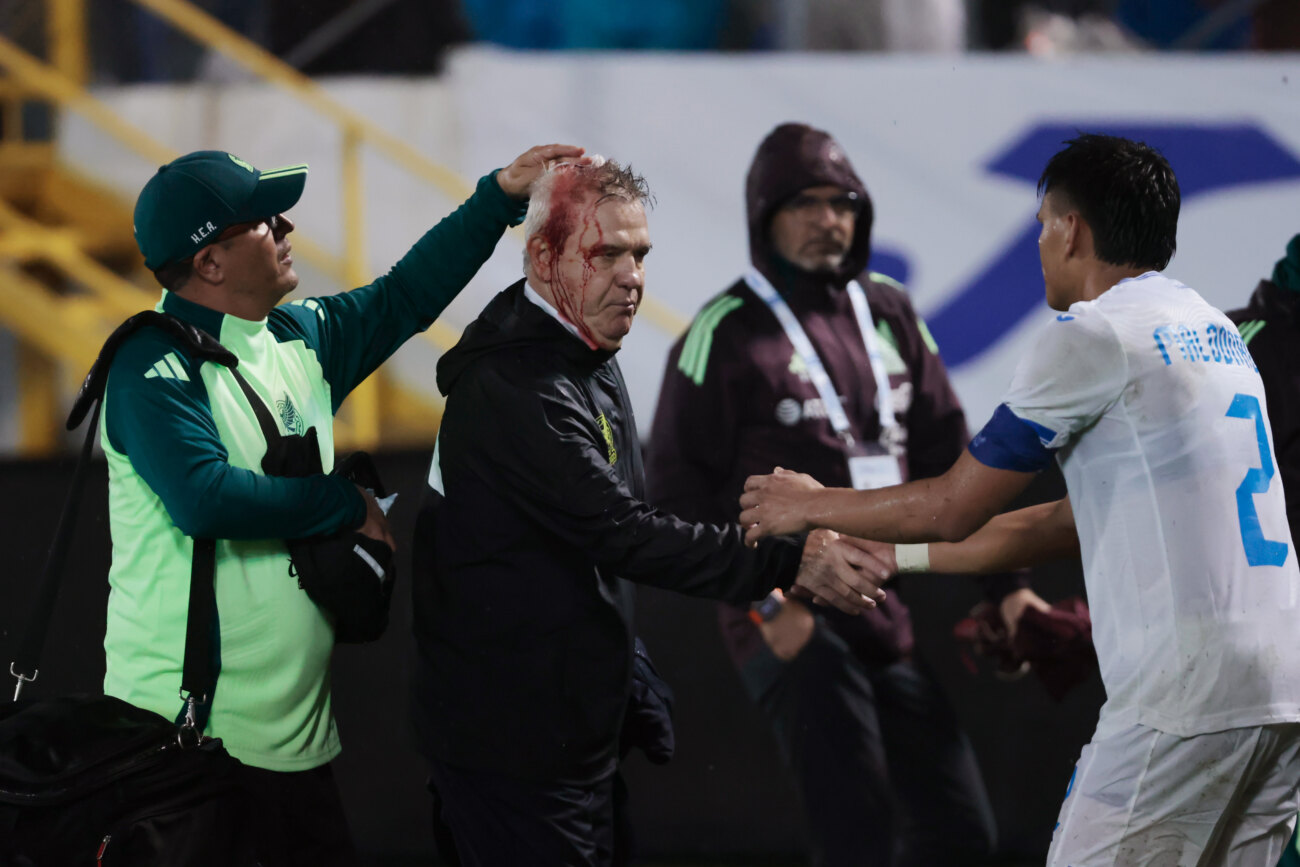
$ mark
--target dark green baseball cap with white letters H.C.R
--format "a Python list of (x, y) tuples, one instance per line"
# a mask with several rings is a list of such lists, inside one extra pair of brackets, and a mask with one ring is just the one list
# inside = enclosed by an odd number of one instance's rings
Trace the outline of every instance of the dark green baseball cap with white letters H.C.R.
[(298, 203), (307, 164), (259, 172), (234, 153), (195, 151), (164, 166), (135, 200), (135, 244), (157, 270), (188, 259), (229, 226), (283, 213)]

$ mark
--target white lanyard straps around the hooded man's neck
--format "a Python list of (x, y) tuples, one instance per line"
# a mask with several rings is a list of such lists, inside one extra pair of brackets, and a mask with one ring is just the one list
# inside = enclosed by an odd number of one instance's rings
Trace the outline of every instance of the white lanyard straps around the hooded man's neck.
[[(835, 386), (831, 383), (831, 376), (826, 372), (826, 365), (822, 364), (822, 357), (812, 348), (812, 342), (809, 341), (803, 326), (800, 325), (794, 313), (790, 312), (790, 305), (785, 303), (785, 299), (781, 298), (772, 283), (757, 270), (751, 269), (746, 273), (745, 282), (749, 283), (755, 295), (767, 303), (776, 320), (781, 324), (781, 328), (785, 329), (785, 337), (794, 346), (794, 351), (803, 359), (803, 365), (809, 370), (809, 378), (812, 380), (812, 385), (822, 398), (822, 406), (826, 407), (826, 415), (835, 433), (849, 446), (853, 446), (849, 416), (844, 412), (840, 395), (835, 393)], [(867, 357), (871, 360), (871, 374), (876, 380), (876, 412), (880, 415), (880, 439), (887, 443), (893, 442), (889, 432), (898, 425), (898, 421), (893, 412), (889, 373), (885, 370), (884, 355), (880, 352), (875, 321), (871, 318), (871, 308), (867, 305), (867, 294), (855, 279), (849, 282), (848, 291), (849, 300), (853, 303), (854, 317), (858, 320), (858, 330), (862, 331), (862, 344), (866, 347)]]

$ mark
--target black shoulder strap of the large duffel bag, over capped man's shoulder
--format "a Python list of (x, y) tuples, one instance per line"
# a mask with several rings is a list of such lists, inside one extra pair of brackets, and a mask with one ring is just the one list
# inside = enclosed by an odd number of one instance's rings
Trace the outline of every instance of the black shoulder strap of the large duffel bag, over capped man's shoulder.
[[(91, 365), (90, 373), (82, 382), (77, 400), (73, 403), (68, 416), (68, 429), (74, 430), (91, 415), (90, 429), (86, 432), (86, 441), (82, 445), (81, 456), (77, 461), (77, 471), (73, 473), (73, 482), (64, 500), (64, 511), (58, 516), (58, 526), (55, 530), (55, 539), (49, 546), (46, 558), (46, 568), (36, 586), (36, 601), (32, 604), (31, 619), (23, 633), (18, 653), (9, 663), (9, 673), (18, 682), (14, 688), (14, 701), (22, 693), (22, 685), (36, 680), (40, 667), (40, 653), (46, 645), (46, 633), (49, 629), (49, 620), (53, 616), (55, 601), (58, 595), (58, 584), (62, 580), (64, 565), (68, 560), (69, 542), (77, 525), (77, 512), (81, 508), (82, 494), (86, 487), (86, 473), (90, 468), (90, 458), (94, 450), (95, 434), (99, 430), (99, 415), (103, 408), (104, 387), (108, 383), (108, 370), (113, 364), (113, 356), (122, 347), (129, 337), (143, 328), (159, 328), (177, 337), (188, 355), (192, 357), (214, 361), (229, 367), (231, 370), (239, 360), (228, 348), (221, 346), (216, 338), (207, 331), (183, 322), (168, 313), (146, 311), (130, 317), (104, 342), (99, 357)], [(239, 377), (240, 380), (243, 377)], [(265, 409), (265, 407), (264, 407)], [(182, 689), (194, 695), (211, 697), (216, 686), (216, 664), (212, 653), (212, 624), (216, 611), (216, 593), (213, 578), (216, 568), (216, 543), (212, 539), (194, 541), (194, 560), (190, 572), (190, 612), (186, 621), (186, 650), (185, 669), (182, 675)], [(192, 646), (192, 647), (191, 647)]]

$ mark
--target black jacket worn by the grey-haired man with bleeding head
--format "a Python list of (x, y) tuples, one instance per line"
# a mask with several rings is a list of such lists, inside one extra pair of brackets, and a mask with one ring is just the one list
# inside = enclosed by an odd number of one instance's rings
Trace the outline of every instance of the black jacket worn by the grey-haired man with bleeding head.
[(796, 538), (645, 500), (612, 354), (497, 295), (438, 363), (443, 495), (415, 541), (416, 723), (447, 764), (589, 784), (614, 771), (632, 671), (629, 582), (744, 603), (788, 586)]

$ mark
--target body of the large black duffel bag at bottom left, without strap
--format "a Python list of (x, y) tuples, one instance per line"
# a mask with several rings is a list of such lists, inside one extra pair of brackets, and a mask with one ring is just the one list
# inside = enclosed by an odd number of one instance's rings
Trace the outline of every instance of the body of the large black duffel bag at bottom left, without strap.
[(0, 707), (0, 864), (254, 864), (239, 762), (112, 695)]

